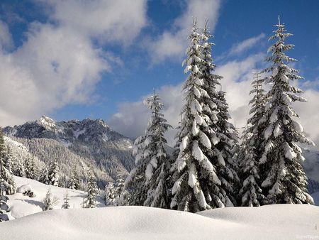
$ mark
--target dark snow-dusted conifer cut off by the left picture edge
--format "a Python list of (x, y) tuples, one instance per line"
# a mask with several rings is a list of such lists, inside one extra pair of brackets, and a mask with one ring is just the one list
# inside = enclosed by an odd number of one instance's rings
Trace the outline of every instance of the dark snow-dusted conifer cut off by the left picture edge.
[(6, 190), (6, 195), (13, 195), (16, 192), (16, 182), (14, 182), (13, 175), (6, 168), (6, 153), (4, 133), (0, 127), (0, 182)]

